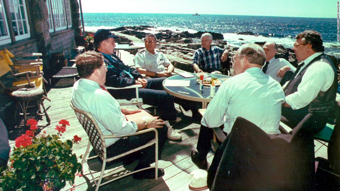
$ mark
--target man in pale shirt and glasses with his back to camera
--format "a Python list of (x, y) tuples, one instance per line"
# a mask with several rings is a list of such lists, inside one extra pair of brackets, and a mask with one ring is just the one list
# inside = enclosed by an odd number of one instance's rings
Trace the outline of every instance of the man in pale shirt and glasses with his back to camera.
[(279, 132), (281, 105), (285, 95), (280, 84), (264, 74), (261, 66), (266, 60), (263, 49), (256, 44), (244, 44), (232, 58), (234, 77), (224, 81), (211, 100), (201, 121), (197, 150), (191, 160), (201, 169), (207, 168), (211, 128), (223, 127), (230, 133), (237, 117), (243, 117), (268, 134)]

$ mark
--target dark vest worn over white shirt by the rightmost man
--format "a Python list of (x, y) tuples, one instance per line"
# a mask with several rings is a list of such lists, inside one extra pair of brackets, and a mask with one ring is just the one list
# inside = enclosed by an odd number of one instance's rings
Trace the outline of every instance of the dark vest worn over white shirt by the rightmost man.
[(312, 113), (314, 115), (326, 116), (329, 111), (334, 109), (334, 102), (335, 102), (338, 84), (337, 84), (337, 71), (334, 67), (334, 64), (330, 60), (330, 58), (325, 54), (321, 54), (320, 56), (317, 56), (312, 61), (310, 61), (304, 69), (302, 69), (299, 75), (297, 75), (287, 87), (285, 91), (285, 96), (290, 95), (297, 91), (297, 87), (301, 83), (302, 77), (305, 74), (307, 68), (309, 68), (310, 65), (312, 65), (313, 63), (317, 61), (326, 62), (333, 68), (333, 71), (334, 71), (333, 83), (327, 91), (325, 92), (320, 91), (317, 97), (312, 102), (310, 102), (306, 107), (301, 108), (299, 110), (301, 112), (305, 111), (308, 113)]

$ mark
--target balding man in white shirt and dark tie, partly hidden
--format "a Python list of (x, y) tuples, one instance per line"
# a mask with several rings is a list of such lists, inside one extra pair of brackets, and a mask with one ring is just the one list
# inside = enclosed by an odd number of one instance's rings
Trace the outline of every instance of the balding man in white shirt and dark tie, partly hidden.
[(277, 44), (274, 41), (266, 42), (263, 45), (266, 53), (266, 63), (262, 67), (262, 72), (272, 77), (274, 80), (281, 82), (286, 72), (295, 72), (296, 68), (284, 58), (275, 58)]

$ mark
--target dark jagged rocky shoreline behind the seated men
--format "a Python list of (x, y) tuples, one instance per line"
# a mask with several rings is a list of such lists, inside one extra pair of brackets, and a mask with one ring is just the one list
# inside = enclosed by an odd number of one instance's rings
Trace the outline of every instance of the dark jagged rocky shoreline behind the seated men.
[[(176, 68), (192, 72), (191, 60), (195, 50), (201, 47), (200, 38), (203, 33), (199, 31), (197, 33), (189, 33), (188, 31), (171, 31), (171, 30), (157, 30), (156, 27), (140, 25), (140, 26), (122, 26), (118, 28), (111, 29), (113, 33), (120, 36), (117, 39), (117, 42), (131, 42), (135, 41), (130, 37), (137, 37), (138, 39), (143, 40), (144, 37), (149, 33), (154, 33), (157, 37), (157, 49), (163, 51), (166, 54), (167, 58), (174, 64)], [(156, 33), (155, 33), (155, 32)], [(93, 32), (87, 32), (92, 33)], [(229, 57), (233, 56), (239, 47), (228, 45), (225, 40), (223, 40), (223, 35), (220, 33), (208, 32), (213, 37), (212, 45), (219, 46), (222, 49), (229, 50)], [(243, 35), (255, 35), (250, 31), (242, 32), (239, 34)], [(242, 39), (241, 39), (242, 40)], [(263, 45), (266, 42), (255, 42), (256, 44)], [(136, 52), (132, 52), (132, 54), (136, 54)], [(292, 65), (297, 66), (297, 60), (295, 58), (295, 53), (293, 50), (284, 47), (283, 45), (278, 44), (278, 51), (275, 55), (276, 58), (285, 58)], [(330, 56), (335, 63), (338, 72), (338, 81), (340, 80), (340, 58), (336, 58), (334, 56)]]

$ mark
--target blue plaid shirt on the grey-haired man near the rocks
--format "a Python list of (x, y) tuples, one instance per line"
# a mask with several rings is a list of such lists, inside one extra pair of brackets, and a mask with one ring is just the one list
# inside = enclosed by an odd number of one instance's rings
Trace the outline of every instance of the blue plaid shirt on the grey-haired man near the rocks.
[(209, 50), (203, 49), (203, 47), (201, 47), (200, 49), (195, 51), (192, 58), (191, 66), (193, 64), (197, 64), (201, 70), (220, 70), (221, 56), (223, 52), (224, 50), (218, 46), (210, 46)]

